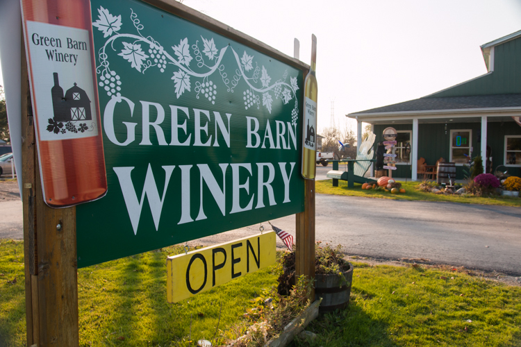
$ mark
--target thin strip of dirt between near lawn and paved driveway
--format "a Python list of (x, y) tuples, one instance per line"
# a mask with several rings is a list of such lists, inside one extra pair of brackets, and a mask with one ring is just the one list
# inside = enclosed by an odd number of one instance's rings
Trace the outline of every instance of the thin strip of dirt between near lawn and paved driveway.
[(361, 257), (359, 255), (346, 255), (344, 257), (345, 260), (351, 262), (356, 268), (356, 262), (363, 262), (369, 264), (371, 266), (376, 265), (391, 265), (391, 266), (413, 266), (418, 267), (421, 266), (423, 269), (439, 269), (443, 271), (453, 271), (456, 273), (466, 273), (470, 276), (475, 276), (479, 278), (484, 278), (486, 280), (492, 280), (495, 282), (500, 282), (505, 285), (511, 285), (516, 287), (521, 287), (521, 276), (510, 276), (506, 273), (501, 273), (497, 271), (483, 271), (483, 270), (471, 270), (465, 268), (465, 266), (452, 266), (447, 264), (434, 264), (429, 259), (424, 258), (402, 258), (397, 260), (392, 259), (383, 259), (377, 257)]

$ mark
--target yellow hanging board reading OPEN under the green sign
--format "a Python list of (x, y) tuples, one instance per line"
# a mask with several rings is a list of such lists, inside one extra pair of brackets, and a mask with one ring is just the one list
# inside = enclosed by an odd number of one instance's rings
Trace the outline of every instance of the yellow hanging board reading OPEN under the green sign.
[(197, 293), (270, 266), (275, 262), (274, 231), (167, 257), (167, 301)]

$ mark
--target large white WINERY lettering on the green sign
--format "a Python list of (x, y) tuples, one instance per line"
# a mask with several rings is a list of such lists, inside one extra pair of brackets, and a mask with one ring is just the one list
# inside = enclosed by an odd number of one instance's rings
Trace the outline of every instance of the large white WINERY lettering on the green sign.
[[(236, 164), (219, 164), (219, 174), (208, 166), (208, 164), (195, 165), (199, 170), (199, 213), (195, 221), (206, 219), (204, 213), (204, 186), (208, 187), (213, 201), (217, 204), (223, 216), (226, 214), (233, 214), (238, 212), (245, 212), (254, 208), (265, 208), (265, 192), (267, 192), (267, 201), (270, 206), (276, 205), (277, 201), (281, 203), (290, 203), (290, 180), (295, 162), (279, 162), (278, 173), (274, 165), (270, 162), (261, 162), (252, 165), (251, 163), (236, 163)], [(288, 167), (289, 164), (289, 167)], [(163, 212), (163, 203), (167, 198), (168, 192), (181, 192), (181, 217), (178, 224), (192, 223), (192, 211), (190, 210), (190, 190), (193, 188), (190, 185), (190, 171), (194, 165), (179, 165), (181, 171), (181, 181), (176, 184), (174, 189), (168, 189), (172, 173), (178, 171), (176, 165), (162, 166), (165, 171), (165, 183), (163, 185), (163, 194), (159, 195), (156, 179), (151, 165), (148, 164), (147, 174), (144, 178), (142, 189), (136, 189), (135, 185), (140, 187), (131, 178), (131, 173), (135, 167), (114, 167), (114, 171), (119, 180), (119, 186), (122, 189), (123, 198), (126, 205), (126, 210), (129, 212), (129, 218), (132, 224), (134, 235), (138, 233), (138, 226), (140, 217), (143, 212), (144, 197), (147, 196), (149, 201), (150, 212), (154, 220), (156, 231), (159, 228), (161, 213)], [(226, 211), (226, 172), (231, 167), (231, 210)], [(265, 169), (267, 169), (267, 178), (265, 176)], [(217, 178), (216, 178), (217, 176)], [(284, 190), (283, 192), (274, 192), (272, 183), (275, 178), (282, 179)], [(257, 192), (250, 192), (250, 178), (257, 180)], [(136, 190), (141, 191), (141, 197), (138, 199)], [(248, 198), (241, 200), (241, 190), (247, 193)], [(208, 204), (207, 204), (208, 206)], [(169, 211), (172, 213), (172, 211)]]

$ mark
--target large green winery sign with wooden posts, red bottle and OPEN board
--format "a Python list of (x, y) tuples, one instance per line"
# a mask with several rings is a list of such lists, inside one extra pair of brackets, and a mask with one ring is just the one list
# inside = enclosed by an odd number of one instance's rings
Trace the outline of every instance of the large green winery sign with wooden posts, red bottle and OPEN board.
[[(289, 214), (297, 276), (314, 276), (310, 67), (176, 1), (61, 1), (22, 1), (28, 346), (78, 346), (78, 268)], [(274, 251), (267, 232), (169, 258), (169, 296)]]

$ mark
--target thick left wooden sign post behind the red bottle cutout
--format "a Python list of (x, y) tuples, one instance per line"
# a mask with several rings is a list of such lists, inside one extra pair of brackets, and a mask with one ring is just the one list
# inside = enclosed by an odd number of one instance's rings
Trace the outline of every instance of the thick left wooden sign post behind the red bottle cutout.
[(42, 196), (26, 52), (22, 40), (22, 179), (27, 346), (79, 345), (76, 208)]

